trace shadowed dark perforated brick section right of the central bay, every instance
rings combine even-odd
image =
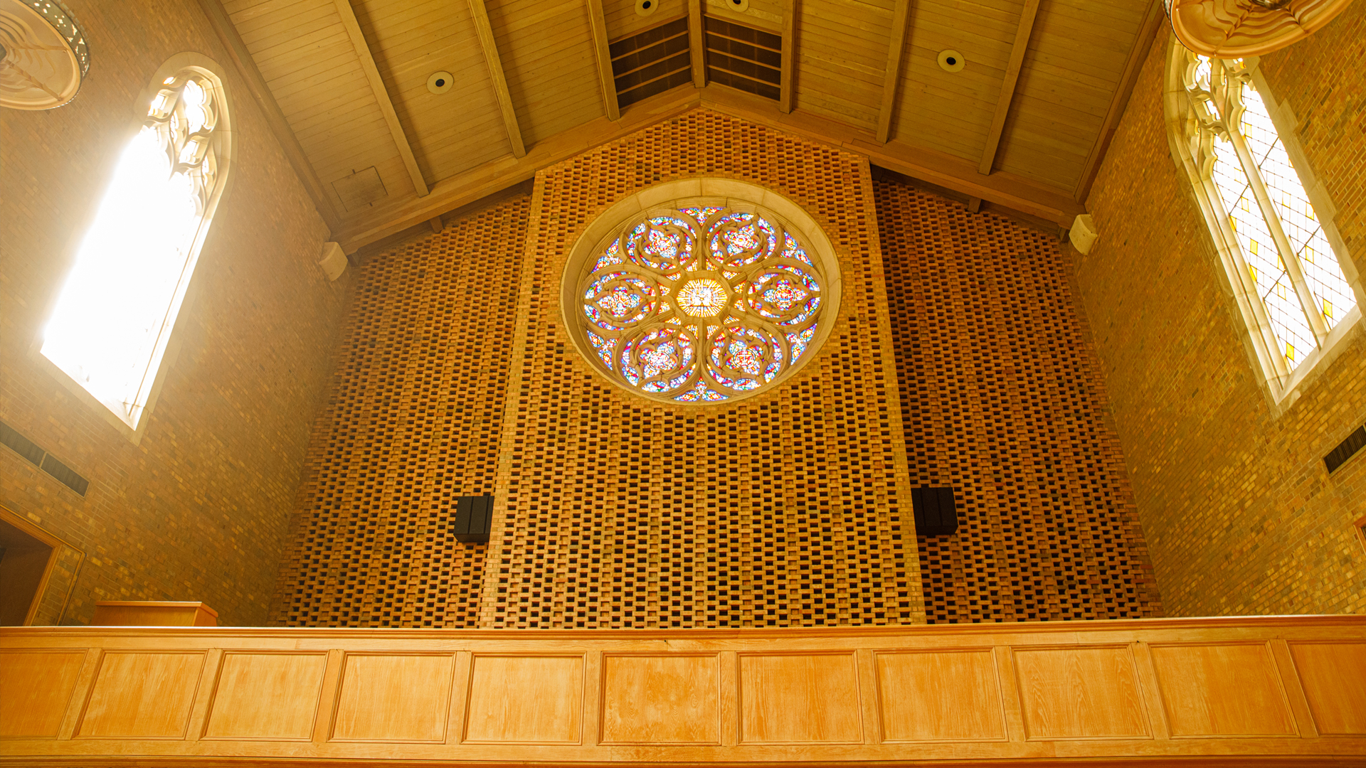
[[[958,499],[958,533],[919,537],[928,620],[1161,616],[1060,243],[876,190],[911,481]]]

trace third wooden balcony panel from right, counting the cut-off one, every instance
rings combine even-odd
[[[1030,739],[1152,735],[1128,646],[1015,650]]]

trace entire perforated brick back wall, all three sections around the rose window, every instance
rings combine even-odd
[[[594,373],[553,295],[601,210],[702,174],[811,210],[854,298],[790,383],[688,411]],[[1056,235],[705,111],[552,167],[362,265],[272,623],[1161,615],[1068,271]],[[910,537],[888,484],[955,486],[959,533]],[[479,493],[505,515],[492,555],[451,533],[452,497]]]

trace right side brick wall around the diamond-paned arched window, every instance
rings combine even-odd
[[[1262,57],[1299,118],[1305,153],[1366,266],[1366,5]],[[1115,422],[1157,581],[1172,615],[1359,612],[1366,462],[1322,456],[1366,421],[1366,333],[1277,414],[1205,223],[1171,159],[1149,55],[1089,208],[1100,241],[1078,257]]]

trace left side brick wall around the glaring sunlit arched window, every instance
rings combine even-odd
[[[48,112],[0,109],[0,420],[90,480],[82,497],[0,448],[0,503],[85,549],[64,620],[96,600],[204,600],[225,625],[266,618],[344,282],[314,264],[326,228],[194,3],[81,3],[90,77]],[[227,68],[236,159],[199,257],[178,347],[141,444],[29,357],[172,55]]]

